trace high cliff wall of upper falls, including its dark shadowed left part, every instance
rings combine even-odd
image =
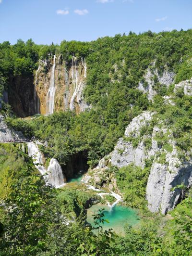
[[[68,64],[61,54],[40,60],[33,75],[10,77],[8,102],[15,114],[21,117],[35,114],[52,114],[49,109],[50,87],[54,86],[52,98],[54,111],[74,110],[76,114],[89,107],[84,102],[83,90],[86,80],[86,63],[72,57]]]

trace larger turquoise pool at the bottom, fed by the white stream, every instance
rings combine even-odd
[[[103,229],[113,229],[116,233],[124,235],[124,227],[125,224],[129,223],[132,227],[136,227],[140,219],[137,215],[137,211],[125,207],[122,205],[115,205],[112,209],[110,209],[106,205],[96,204],[91,208],[87,209],[87,222],[94,226],[93,214],[97,213],[100,208],[104,208],[105,219],[108,219],[109,223],[104,222]]]

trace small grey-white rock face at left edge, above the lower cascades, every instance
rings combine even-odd
[[[24,135],[21,131],[15,131],[7,127],[3,115],[0,115],[0,142],[20,142],[24,141]]]

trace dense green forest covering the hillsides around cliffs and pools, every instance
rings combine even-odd
[[[72,56],[84,57],[88,66],[85,101],[92,108],[76,115],[72,111],[32,119],[18,118],[9,104],[2,101],[1,114],[9,127],[47,141],[40,146],[48,162],[56,158],[65,166],[73,154],[86,152],[93,168],[109,154],[123,136],[133,117],[144,110],[155,111],[149,127],[136,146],[150,134],[160,119],[173,131],[180,159],[184,162],[192,148],[192,96],[183,90],[174,93],[174,84],[162,86],[156,81],[157,95],[149,101],[138,90],[148,67],[162,74],[175,73],[174,83],[192,77],[192,30],[151,31],[136,35],[116,35],[92,42],[62,41],[59,45],[36,45],[31,39],[15,45],[0,44],[0,96],[12,85],[12,77],[35,75],[40,59],[61,54],[67,65]],[[173,97],[174,105],[164,104],[163,96]],[[61,140],[62,138],[62,140]],[[159,136],[158,144],[170,149],[168,135]],[[151,143],[151,141],[145,141]],[[32,159],[14,143],[0,144],[0,255],[174,255],[192,254],[192,190],[185,190],[181,203],[167,217],[152,214],[145,200],[146,183],[152,164],[144,169],[126,166],[110,168],[124,195],[125,205],[140,208],[142,223],[134,229],[127,223],[125,236],[102,230],[102,210],[95,216],[95,227],[85,222],[87,202],[97,200],[83,185],[61,190],[45,186]],[[164,155],[161,161],[165,161]],[[182,184],[180,184],[181,186]],[[2,203],[1,203],[2,202]],[[68,218],[74,221],[67,223]],[[67,225],[66,225],[67,223]]]

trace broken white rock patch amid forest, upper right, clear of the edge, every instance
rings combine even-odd
[[[144,75],[144,79],[148,85],[145,88],[144,84],[142,82],[139,82],[138,89],[142,90],[144,93],[148,93],[148,100],[153,100],[153,97],[156,95],[156,91],[153,89],[154,75],[157,76],[159,83],[166,85],[168,87],[170,84],[172,84],[175,74],[173,72],[169,72],[168,70],[164,70],[162,76],[159,76],[157,69],[155,69],[152,73],[152,71],[149,68],[147,68],[147,72]]]

